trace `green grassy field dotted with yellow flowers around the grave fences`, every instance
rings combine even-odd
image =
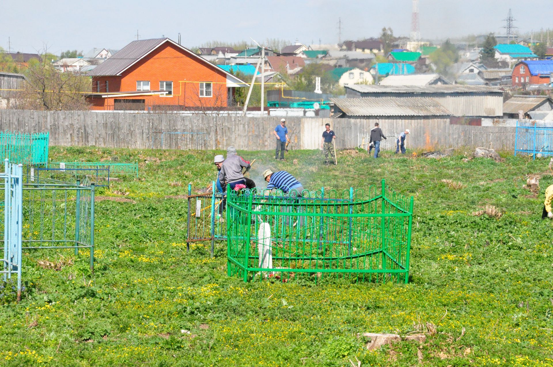
[[[415,197],[408,285],[246,284],[226,275],[226,243],[186,251],[187,183],[205,187],[219,151],[51,149],[56,161],[139,161],[139,179],[98,189],[96,268],[87,251],[61,270],[37,261],[71,251],[24,255],[19,305],[1,290],[0,366],[551,366],[553,222],[542,221],[545,160],[505,153],[503,162],[341,152],[265,151],[259,172],[288,170],[305,188],[363,188],[386,179]],[[294,165],[293,159],[299,164]],[[526,175],[542,174],[535,196]],[[452,180],[453,182],[443,182]],[[456,185],[456,182],[460,184]],[[475,216],[487,205],[502,216]],[[463,331],[464,330],[464,331]],[[364,332],[424,331],[426,342],[367,351]],[[357,363],[356,363],[357,364]]]

